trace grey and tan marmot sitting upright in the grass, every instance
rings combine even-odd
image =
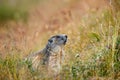
[[[34,69],[41,68],[45,65],[49,73],[57,75],[60,73],[61,64],[64,60],[64,46],[67,42],[67,35],[60,34],[52,36],[43,50],[40,50],[27,57],[31,60]]]

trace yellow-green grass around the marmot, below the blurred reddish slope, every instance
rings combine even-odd
[[[72,21],[64,29],[47,32],[42,37],[44,41],[41,38],[37,38],[37,41],[43,46],[47,38],[56,33],[65,33],[69,36],[65,46],[66,62],[60,75],[62,80],[120,79],[119,11],[114,12],[110,8],[100,13],[90,12],[80,22]],[[36,40],[33,38],[32,41],[34,43]],[[14,41],[11,44],[13,45]],[[19,47],[22,45],[19,44]],[[34,50],[30,47],[28,49],[25,47],[19,49],[19,47],[4,48],[7,55],[0,58],[0,80],[52,80],[43,77],[43,74],[46,74],[44,70],[34,72],[31,63],[23,61],[23,56]],[[35,46],[36,49],[38,47]]]

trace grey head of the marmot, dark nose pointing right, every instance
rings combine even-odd
[[[63,47],[66,44],[66,42],[67,35],[65,34],[55,35],[48,40],[47,46],[51,49],[54,49],[57,47]]]

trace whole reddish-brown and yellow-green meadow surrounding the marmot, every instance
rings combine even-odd
[[[17,17],[16,9],[5,17],[0,11],[0,80],[52,80],[23,59],[60,33],[68,35],[61,80],[120,80],[120,1],[103,2],[104,7],[96,2],[56,0],[56,6],[45,0],[22,13],[17,9]]]

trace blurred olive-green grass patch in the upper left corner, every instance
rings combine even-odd
[[[39,0],[1,0],[0,2],[0,22],[10,20],[27,21],[28,11]]]

